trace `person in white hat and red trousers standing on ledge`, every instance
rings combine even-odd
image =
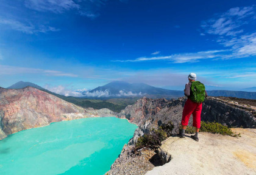
[[[196,134],[191,136],[192,139],[199,141],[198,132],[201,126],[201,111],[202,102],[208,96],[205,91],[205,86],[200,81],[196,81],[196,74],[190,73],[188,75],[188,83],[185,85],[184,94],[188,97],[182,112],[182,130],[179,137],[185,138],[185,129],[190,120],[190,115],[193,115],[193,126],[196,127]]]

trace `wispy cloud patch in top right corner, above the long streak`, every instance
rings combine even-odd
[[[213,18],[202,21],[201,27],[206,33],[224,36],[235,36],[243,33],[241,26],[247,21],[255,18],[255,7],[235,7],[225,13],[213,16]]]

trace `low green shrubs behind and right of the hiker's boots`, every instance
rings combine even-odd
[[[188,126],[186,131],[188,134],[193,134],[195,129],[193,126]],[[241,134],[235,134],[232,130],[221,123],[217,122],[201,122],[201,128],[199,132],[210,132],[213,134],[222,134],[223,136],[241,137]]]

